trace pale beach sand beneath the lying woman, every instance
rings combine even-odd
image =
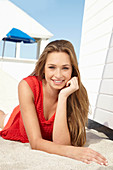
[[[0,170],[113,170],[113,141],[93,129],[87,129],[87,147],[103,154],[109,165],[87,165],[67,157],[31,150],[29,144],[0,137]]]

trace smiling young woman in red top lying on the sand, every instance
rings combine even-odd
[[[18,86],[19,106],[11,115],[0,111],[0,135],[29,142],[42,150],[83,161],[107,165],[99,153],[86,147],[85,125],[89,100],[80,80],[73,45],[66,40],[50,42],[33,73]]]

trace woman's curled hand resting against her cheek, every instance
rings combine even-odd
[[[79,89],[78,85],[78,77],[72,77],[67,83],[66,87],[64,87],[61,91],[60,94],[63,94],[65,97],[68,97],[75,91]]]

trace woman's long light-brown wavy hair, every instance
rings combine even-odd
[[[86,142],[85,126],[88,120],[89,100],[87,91],[80,79],[77,57],[73,45],[67,40],[50,42],[42,52],[31,75],[38,76],[41,80],[45,78],[44,67],[47,56],[54,51],[65,52],[70,56],[72,77],[78,77],[79,90],[72,93],[67,99],[67,123],[71,137],[71,144],[74,146],[83,146]]]

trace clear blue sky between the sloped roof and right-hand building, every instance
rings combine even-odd
[[[74,45],[79,58],[85,0],[10,0],[54,36]]]

